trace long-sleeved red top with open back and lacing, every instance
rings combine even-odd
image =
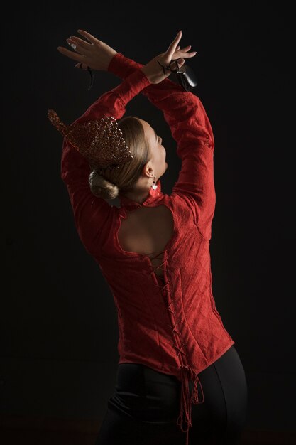
[[[183,91],[169,79],[151,85],[139,69],[141,66],[121,53],[114,55],[109,71],[124,80],[99,97],[76,122],[103,115],[120,119],[126,104],[141,92],[163,112],[177,142],[182,167],[172,193],[163,193],[158,180],[157,191],[151,188],[142,204],[119,195],[117,207],[95,197],[89,189],[89,163],[66,139],[61,176],[80,240],[114,296],[119,363],[141,363],[180,380],[177,424],[187,432],[188,444],[191,404],[204,401],[197,374],[234,344],[212,294],[209,240],[216,202],[214,137],[196,95]],[[156,205],[167,206],[174,222],[170,241],[158,253],[163,279],[155,274],[149,255],[122,250],[117,236],[127,212]]]

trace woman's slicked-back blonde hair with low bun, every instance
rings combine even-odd
[[[119,120],[118,124],[133,159],[121,163],[119,168],[93,168],[89,174],[92,193],[107,200],[115,199],[119,191],[131,191],[143,166],[150,161],[150,149],[140,120],[128,116]]]

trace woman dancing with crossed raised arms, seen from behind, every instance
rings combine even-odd
[[[123,79],[69,127],[48,113],[65,136],[61,174],[77,231],[118,313],[116,387],[96,445],[239,444],[246,377],[212,295],[214,137],[199,98],[166,78],[196,52],[180,49],[180,31],[140,65],[78,32],[67,39],[74,51],[60,53]],[[168,168],[161,137],[140,117],[124,117],[140,92],[177,142],[182,168],[170,195],[160,185]],[[107,202],[116,196],[119,208]]]

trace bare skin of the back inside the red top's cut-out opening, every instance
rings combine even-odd
[[[127,213],[127,218],[121,220],[119,244],[127,252],[148,255],[153,266],[158,267],[163,262],[163,255],[153,257],[165,250],[173,230],[172,213],[166,205],[141,207]],[[163,277],[162,269],[156,269],[155,274]]]

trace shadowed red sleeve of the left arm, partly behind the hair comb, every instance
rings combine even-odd
[[[126,104],[147,85],[150,85],[150,82],[143,71],[131,73],[118,87],[99,97],[75,122],[100,119],[104,115],[120,119],[126,111]],[[88,161],[64,139],[61,177],[70,196],[77,232],[86,250],[90,254],[98,254],[109,232],[111,206],[90,191],[89,173]]]

